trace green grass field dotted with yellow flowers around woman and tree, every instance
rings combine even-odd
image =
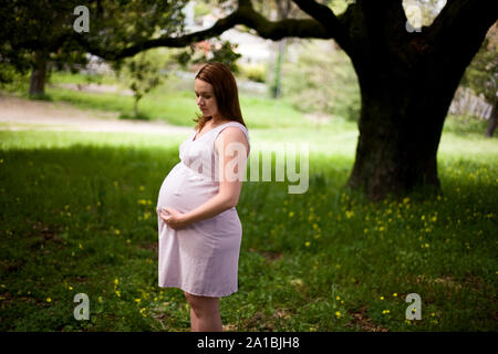
[[[484,122],[448,118],[436,199],[371,204],[342,188],[353,123],[263,129],[258,115],[247,119],[253,147],[310,144],[310,187],[245,183],[239,291],[220,305],[227,330],[497,330],[498,144],[481,137]],[[189,330],[183,292],[157,287],[155,215],[185,138],[0,131],[0,331]],[[76,293],[90,298],[90,321],[73,316]],[[408,293],[421,295],[422,320],[405,319]]]

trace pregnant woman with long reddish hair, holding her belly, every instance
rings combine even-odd
[[[179,288],[190,305],[191,331],[221,331],[219,298],[237,291],[242,227],[237,215],[249,157],[249,134],[236,80],[221,63],[195,77],[198,116],[179,146],[180,162],[157,201],[159,287]]]

